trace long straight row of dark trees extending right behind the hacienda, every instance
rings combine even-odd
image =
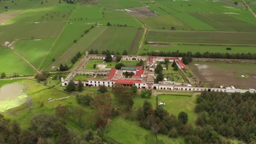
[[[149,55],[149,56],[162,56],[162,57],[195,57],[195,58],[227,58],[227,59],[256,59],[256,53],[220,53],[220,52],[147,52],[147,53],[142,53],[142,55]]]

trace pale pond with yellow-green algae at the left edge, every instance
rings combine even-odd
[[[0,88],[0,112],[20,106],[27,101],[24,87],[19,83],[11,83]]]

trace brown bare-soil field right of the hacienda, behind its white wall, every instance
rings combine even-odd
[[[256,88],[256,64],[253,63],[192,62],[188,67],[203,83]],[[247,74],[250,77],[241,79],[237,74]]]

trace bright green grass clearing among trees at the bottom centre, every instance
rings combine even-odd
[[[114,118],[107,127],[104,136],[110,137],[120,143],[155,143],[152,130],[142,128],[138,122],[125,120],[121,117]],[[109,140],[108,141],[112,141]],[[113,142],[113,141],[112,141]],[[183,137],[172,139],[167,135],[158,134],[158,143],[184,143]]]

